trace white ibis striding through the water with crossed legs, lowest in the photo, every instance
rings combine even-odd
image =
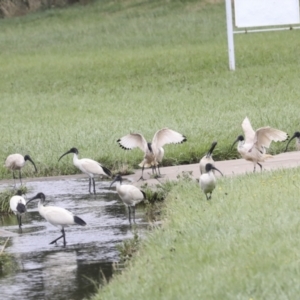
[[[38,209],[40,215],[45,218],[50,224],[61,229],[62,235],[52,241],[50,244],[56,243],[59,239],[63,238],[64,247],[66,246],[66,234],[65,227],[69,225],[81,225],[85,226],[86,223],[78,216],[74,216],[70,211],[65,208],[58,206],[44,206],[45,203],[45,195],[43,193],[36,194],[33,198],[29,199],[29,202],[39,199]]]

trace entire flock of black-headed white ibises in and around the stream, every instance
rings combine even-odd
[[[240,153],[242,158],[253,163],[254,172],[256,170],[256,165],[258,165],[260,169],[262,169],[261,163],[264,162],[267,158],[271,157],[270,154],[267,154],[267,149],[270,147],[272,141],[282,142],[288,139],[288,134],[286,132],[275,128],[271,128],[269,126],[262,127],[254,131],[247,117],[242,122],[242,129],[244,131],[244,136],[239,135],[233,143],[232,147],[235,145],[235,143],[238,142],[237,151]],[[300,132],[294,133],[294,135],[288,141],[285,151],[287,151],[290,142],[294,138],[296,139],[296,149],[300,151]],[[180,144],[185,141],[186,137],[184,135],[169,128],[163,128],[158,130],[154,134],[151,142],[147,142],[143,135],[139,133],[130,133],[117,140],[120,147],[122,147],[125,150],[140,148],[143,151],[143,161],[139,164],[139,166],[142,168],[142,175],[140,179],[143,180],[143,172],[145,168],[152,168],[152,173],[155,177],[161,176],[159,166],[164,156],[164,145]],[[207,200],[211,199],[212,192],[216,187],[215,171],[218,171],[223,176],[222,172],[215,167],[215,162],[212,157],[212,153],[216,145],[217,142],[214,141],[211,144],[211,147],[208,150],[208,152],[201,158],[199,162],[199,186],[205,194]],[[79,159],[79,151],[77,148],[71,148],[69,151],[61,155],[58,161],[60,161],[62,157],[70,153],[73,154],[74,166],[89,177],[89,193],[96,194],[96,176],[105,176],[108,178],[113,177],[112,172],[99,162],[89,158]],[[25,166],[27,160],[33,164],[36,171],[36,165],[29,155],[22,156],[21,154],[12,154],[9,155],[5,161],[5,167],[12,171],[14,181],[16,180],[14,172],[16,170],[19,171],[19,179],[21,185],[21,169]],[[145,199],[145,193],[140,188],[134,185],[122,184],[122,177],[119,174],[117,174],[113,178],[110,187],[114,183],[116,183],[116,190],[119,197],[121,198],[123,203],[128,207],[128,219],[131,225],[132,219],[135,223],[135,206]],[[62,233],[61,236],[52,241],[50,244],[56,243],[59,239],[63,239],[63,246],[65,247],[66,237],[64,228],[68,225],[75,224],[81,226],[86,225],[86,222],[84,220],[82,220],[78,216],[73,215],[70,211],[64,208],[57,206],[45,206],[45,195],[42,192],[39,192],[36,196],[34,196],[26,202],[26,200],[22,197],[21,192],[18,190],[16,195],[10,199],[10,208],[13,211],[13,213],[15,213],[17,216],[18,225],[20,229],[22,227],[22,215],[27,211],[26,206],[29,202],[36,199],[39,200],[38,210],[40,215],[43,218],[45,218],[50,224],[58,227]]]

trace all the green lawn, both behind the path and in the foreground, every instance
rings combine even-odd
[[[58,158],[76,147],[117,172],[142,159],[116,142],[129,132],[184,134],[165,147],[163,164],[177,165],[213,140],[215,160],[238,157],[245,116],[300,130],[300,31],[236,36],[230,72],[225,4],[210,2],[98,0],[0,20],[2,161],[29,154],[38,172],[24,176],[75,174]],[[182,178],[162,226],[94,299],[298,299],[299,182],[299,169],[224,177],[206,201]]]

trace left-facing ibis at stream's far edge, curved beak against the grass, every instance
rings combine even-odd
[[[89,158],[78,158],[78,149],[77,148],[71,148],[69,151],[64,153],[60,159],[69,154],[73,153],[73,164],[75,167],[77,167],[81,172],[87,174],[89,176],[89,192],[92,194],[91,187],[93,182],[93,189],[94,194],[96,194],[96,188],[95,188],[95,176],[108,176],[111,177],[111,171],[107,169],[106,167],[102,166],[100,163],[98,163],[95,160],[89,159]]]

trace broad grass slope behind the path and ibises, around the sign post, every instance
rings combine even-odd
[[[255,128],[299,129],[298,32],[237,36],[229,72],[224,3],[95,1],[0,26],[0,158],[30,154],[38,174],[28,166],[25,176],[78,172],[71,157],[57,162],[74,146],[109,168],[137,167],[140,150],[116,143],[130,131],[185,134],[166,147],[164,164],[175,165],[213,140],[216,159],[236,157],[246,115]],[[0,177],[11,177],[2,164]]]

